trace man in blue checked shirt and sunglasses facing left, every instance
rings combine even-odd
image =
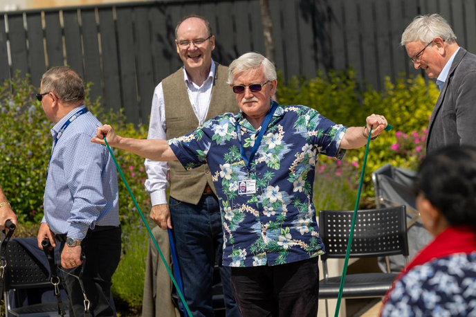
[[[44,193],[44,217],[38,246],[49,239],[61,243],[61,265],[78,275],[86,256],[82,282],[92,316],[115,316],[111,278],[120,260],[118,179],[106,147],[90,142],[101,123],[84,107],[84,83],[68,66],[44,73],[41,93],[44,113],[55,125]],[[62,274],[69,316],[84,316],[80,282]]]

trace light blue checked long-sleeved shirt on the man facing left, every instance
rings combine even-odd
[[[102,124],[86,112],[55,138],[66,121],[84,106],[73,109],[51,134],[53,150],[44,193],[44,218],[53,233],[82,240],[89,228],[119,225],[116,167],[107,147],[91,143]]]

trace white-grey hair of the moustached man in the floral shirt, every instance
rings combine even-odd
[[[263,65],[264,76],[266,80],[275,80],[277,78],[276,68],[270,60],[259,53],[244,53],[230,64],[228,73],[228,84],[233,84],[235,75],[243,71],[257,69]]]

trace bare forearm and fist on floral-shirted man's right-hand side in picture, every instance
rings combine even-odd
[[[370,127],[372,127],[372,138],[378,136],[387,127],[387,119],[384,116],[372,114],[368,116],[367,127],[349,127],[345,132],[342,141],[340,141],[339,149],[358,149],[367,144],[367,136],[369,136]]]

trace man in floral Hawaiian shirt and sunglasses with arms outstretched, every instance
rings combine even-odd
[[[246,316],[316,316],[318,255],[324,253],[312,203],[318,154],[342,159],[387,126],[383,116],[364,127],[336,125],[304,106],[282,106],[273,64],[246,53],[230,64],[228,83],[241,111],[223,114],[170,141],[117,136],[109,125],[93,142],[185,169],[208,163],[223,223],[223,265]]]

